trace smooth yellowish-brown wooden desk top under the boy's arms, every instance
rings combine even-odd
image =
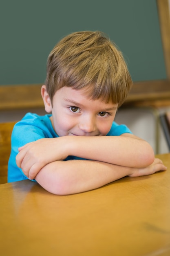
[[[170,256],[168,170],[58,196],[29,180],[0,185],[2,256]]]

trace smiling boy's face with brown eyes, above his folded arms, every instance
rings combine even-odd
[[[118,104],[88,99],[84,89],[63,87],[53,97],[51,121],[59,136],[104,136],[112,126]]]

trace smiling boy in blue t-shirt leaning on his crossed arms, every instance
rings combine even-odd
[[[52,114],[28,113],[15,125],[8,181],[35,179],[66,195],[166,170],[146,141],[114,122],[131,85],[121,52],[104,34],[63,38],[49,55],[41,90]]]

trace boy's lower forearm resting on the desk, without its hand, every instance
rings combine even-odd
[[[99,188],[132,174],[132,168],[106,162],[71,160],[44,166],[35,180],[47,191],[67,195]]]

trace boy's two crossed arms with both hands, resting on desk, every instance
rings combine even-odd
[[[166,170],[150,145],[131,134],[40,139],[19,149],[17,165],[47,191],[71,194],[98,188],[124,176]],[[74,155],[90,160],[64,160]]]

